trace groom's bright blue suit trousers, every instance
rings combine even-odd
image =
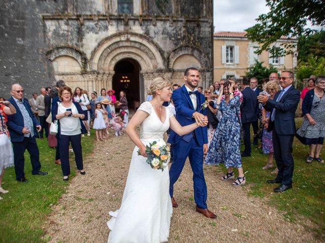
[[[173,150],[173,164],[169,171],[170,196],[173,196],[174,184],[178,180],[178,177],[184,168],[186,158],[188,157],[193,171],[194,201],[198,208],[206,209],[208,192],[203,174],[203,147],[200,146],[197,140],[193,137],[189,142],[180,140],[177,144],[173,144]]]

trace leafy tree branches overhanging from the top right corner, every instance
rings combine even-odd
[[[284,56],[291,53],[295,44],[288,42],[281,47],[272,46],[277,39],[283,36],[297,38],[301,35],[309,35],[314,32],[306,28],[307,21],[311,25],[325,24],[324,0],[266,0],[270,12],[259,15],[257,24],[246,29],[247,38],[253,42],[262,44],[256,51],[268,51],[273,56]]]

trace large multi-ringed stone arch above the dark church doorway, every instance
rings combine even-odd
[[[94,71],[113,70],[123,58],[137,60],[142,70],[164,69],[163,51],[150,38],[137,33],[117,33],[105,38],[92,52],[90,68]]]

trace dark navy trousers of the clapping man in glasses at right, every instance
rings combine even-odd
[[[278,175],[276,180],[281,184],[290,186],[293,183],[294,158],[293,152],[294,135],[278,135],[273,129],[272,143]]]

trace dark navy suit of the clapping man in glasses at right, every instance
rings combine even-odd
[[[276,102],[280,91],[274,99],[268,99],[264,108],[271,114],[275,109],[274,121],[269,120],[268,132],[273,131],[272,142],[274,157],[278,167],[277,181],[290,186],[294,173],[294,158],[292,156],[293,141],[296,134],[295,114],[300,99],[300,92],[291,86]]]

